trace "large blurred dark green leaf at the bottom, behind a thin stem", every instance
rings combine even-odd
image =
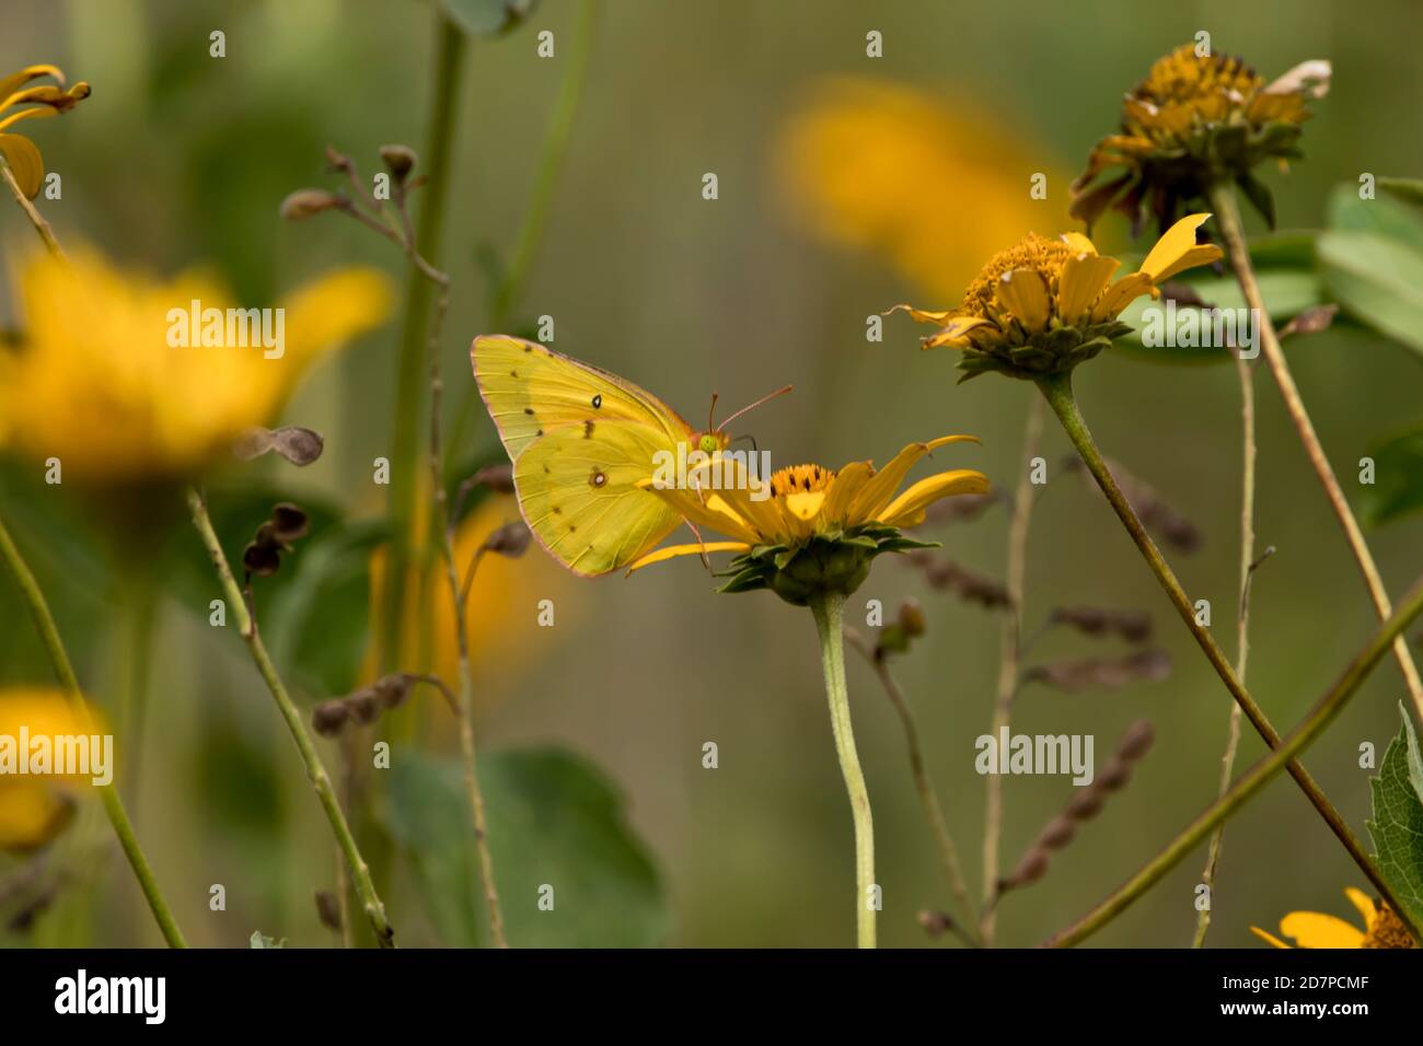
[[[484,901],[461,766],[411,751],[396,760],[384,818],[408,851],[431,921],[451,945],[484,939]],[[490,850],[509,944],[643,948],[672,915],[618,788],[561,749],[480,756]],[[552,911],[539,909],[552,887]]]

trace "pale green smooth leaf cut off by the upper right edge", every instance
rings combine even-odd
[[[1319,238],[1319,263],[1345,312],[1423,354],[1423,249],[1380,232],[1331,231]]]

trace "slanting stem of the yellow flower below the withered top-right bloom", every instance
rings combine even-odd
[[[1249,719],[1251,724],[1255,727],[1257,733],[1265,743],[1272,749],[1279,749],[1281,740],[1279,733],[1271,726],[1269,719],[1266,719],[1264,710],[1255,703],[1255,699],[1249,696],[1245,685],[1241,683],[1231,663],[1225,659],[1225,653],[1215,643],[1210,630],[1195,620],[1195,608],[1191,605],[1190,596],[1185,595],[1185,589],[1181,588],[1181,582],[1177,581],[1175,572],[1167,564],[1165,556],[1161,555],[1161,549],[1157,548],[1151,535],[1147,534],[1146,527],[1143,527],[1141,519],[1137,517],[1136,509],[1127,502],[1126,495],[1121,488],[1117,487],[1117,481],[1113,478],[1111,471],[1107,468],[1107,463],[1103,461],[1101,453],[1097,450],[1096,441],[1091,438],[1091,433],[1087,430],[1087,423],[1081,417],[1081,411],[1077,410],[1077,398],[1073,396],[1072,390],[1072,376],[1070,374],[1053,374],[1050,377],[1040,379],[1037,387],[1042,390],[1043,396],[1047,398],[1047,406],[1052,407],[1057,420],[1062,421],[1063,431],[1067,433],[1067,438],[1072,440],[1073,447],[1077,448],[1077,454],[1081,457],[1083,464],[1091,472],[1101,492],[1107,495],[1107,501],[1111,502],[1113,509],[1116,509],[1117,517],[1121,519],[1121,525],[1127,528],[1131,539],[1137,544],[1141,551],[1141,556],[1147,561],[1147,566],[1161,582],[1161,588],[1165,589],[1167,596],[1171,599],[1171,605],[1175,606],[1177,612],[1181,615],[1181,620],[1185,626],[1191,629],[1191,635],[1195,636],[1197,645],[1201,652],[1205,653],[1205,659],[1215,669],[1215,673],[1225,683],[1225,689],[1231,692],[1231,697],[1239,704],[1241,712]],[[1359,870],[1369,878],[1375,888],[1383,895],[1385,899],[1392,897],[1387,882],[1379,874],[1377,867],[1365,852],[1359,840],[1345,824],[1345,820],[1339,815],[1339,811],[1333,808],[1333,804],[1325,797],[1323,791],[1315,783],[1315,778],[1309,776],[1295,760],[1288,763],[1289,776],[1295,778],[1309,801],[1313,803],[1315,810],[1319,815],[1325,818],[1325,823],[1333,831],[1333,834],[1343,844],[1345,850],[1353,858]],[[1392,904],[1392,901],[1390,901]]]

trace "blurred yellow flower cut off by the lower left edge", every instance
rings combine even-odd
[[[95,716],[92,710],[90,714]],[[0,689],[0,737],[17,739],[21,727],[30,737],[84,734],[104,729],[85,723],[63,690]],[[0,850],[37,850],[58,835],[70,820],[71,796],[88,787],[90,780],[0,774]]]

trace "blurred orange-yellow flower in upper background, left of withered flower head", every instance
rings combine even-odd
[[[963,98],[891,83],[818,84],[781,134],[788,205],[827,239],[884,255],[946,297],[1029,228],[1066,223],[1066,185],[1042,149]],[[1047,199],[1033,199],[1043,174]]]

